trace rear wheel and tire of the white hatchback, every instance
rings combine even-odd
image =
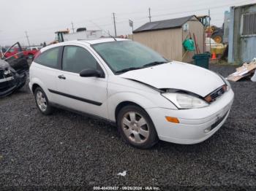
[[[37,87],[36,90],[34,90],[34,98],[37,104],[37,108],[42,114],[52,114],[53,107],[49,105],[47,95],[41,87]]]

